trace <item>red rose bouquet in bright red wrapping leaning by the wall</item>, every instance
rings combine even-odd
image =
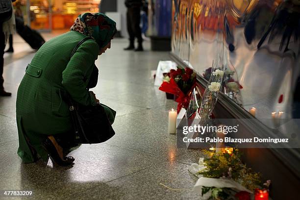
[[[182,107],[188,108],[191,90],[196,86],[196,73],[190,68],[171,70],[164,77],[164,82],[159,90],[173,94],[178,102],[177,113]]]

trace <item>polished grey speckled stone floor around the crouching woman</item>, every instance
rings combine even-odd
[[[176,104],[150,77],[169,54],[150,51],[149,43],[144,52],[124,51],[126,45],[125,39],[114,39],[112,49],[96,61],[100,77],[93,91],[117,111],[116,135],[102,144],[82,145],[71,153],[75,165],[63,168],[51,161],[23,164],[17,155],[16,94],[34,51],[14,37],[15,53],[4,55],[4,86],[13,95],[0,98],[0,190],[31,190],[30,199],[36,200],[200,199],[187,168],[201,153],[176,148],[176,135],[167,132],[168,110]]]

